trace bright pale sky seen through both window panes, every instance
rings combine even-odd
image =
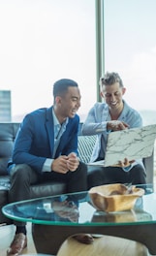
[[[12,121],[52,105],[52,84],[78,81],[83,121],[97,100],[96,0],[0,0],[0,90]],[[105,70],[119,73],[125,100],[156,123],[156,1],[105,0]],[[4,120],[5,121],[5,120]]]

